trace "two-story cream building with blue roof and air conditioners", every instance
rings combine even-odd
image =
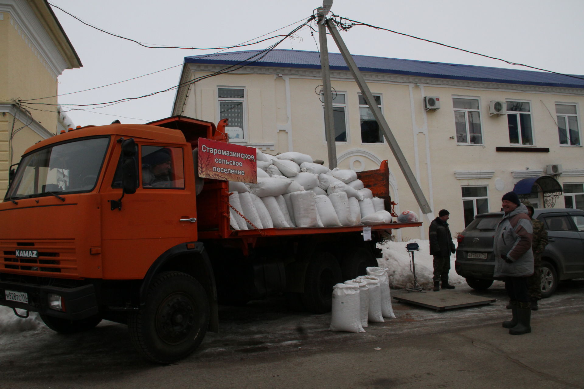
[[[228,118],[231,142],[272,154],[303,152],[326,164],[319,53],[257,54],[186,57],[173,114]],[[499,211],[502,195],[522,179],[523,197],[539,208],[584,209],[584,76],[354,59],[434,213],[450,211],[453,233],[477,213]],[[330,62],[339,167],[376,169],[387,159],[398,211],[421,216],[345,61],[330,54]],[[401,234],[425,238],[426,230],[427,223]]]

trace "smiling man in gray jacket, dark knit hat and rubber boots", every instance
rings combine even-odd
[[[505,289],[513,312],[512,320],[503,321],[511,335],[531,332],[531,303],[527,279],[533,274],[533,227],[527,207],[519,201],[515,192],[503,195],[503,219],[497,225],[493,254],[495,278],[505,281]]]

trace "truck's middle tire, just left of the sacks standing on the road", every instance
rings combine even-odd
[[[343,282],[339,262],[329,253],[317,253],[308,264],[302,303],[312,313],[331,311],[332,287]]]

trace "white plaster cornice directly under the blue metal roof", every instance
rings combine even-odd
[[[228,65],[218,64],[189,64],[193,72],[216,72]],[[282,74],[284,76],[300,76],[301,78],[321,79],[320,69],[305,68],[278,68],[275,66],[245,66],[244,68],[230,72],[231,74]],[[413,83],[426,86],[447,86],[475,89],[514,90],[520,92],[565,93],[576,96],[584,96],[584,90],[580,88],[523,85],[501,82],[479,82],[472,80],[454,80],[445,78],[432,78],[408,75],[396,75],[391,73],[363,72],[365,80],[370,82]],[[353,80],[349,71],[331,71],[331,79]]]

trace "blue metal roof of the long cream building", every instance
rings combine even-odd
[[[253,57],[254,55],[255,57]],[[318,51],[276,49],[268,52],[263,57],[262,55],[261,50],[193,55],[192,57],[185,57],[185,64],[236,65],[249,63],[253,66],[276,66],[280,68],[321,68]],[[357,66],[359,66],[359,69],[363,72],[392,73],[481,82],[584,88],[584,76],[580,75],[576,76],[582,77],[582,79],[548,72],[414,61],[412,59],[370,57],[369,55],[353,55],[353,58]],[[342,55],[338,53],[329,53],[329,64],[333,70],[349,70]]]

